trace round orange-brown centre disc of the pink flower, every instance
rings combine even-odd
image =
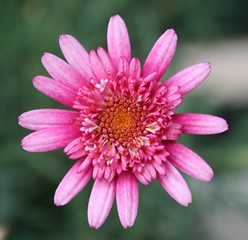
[[[111,99],[100,114],[99,132],[112,143],[132,147],[145,130],[145,115],[140,103],[127,98]]]

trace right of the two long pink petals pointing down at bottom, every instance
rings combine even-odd
[[[133,226],[138,212],[139,189],[133,173],[123,172],[118,176],[116,203],[119,218],[124,228]]]

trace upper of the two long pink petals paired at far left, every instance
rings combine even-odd
[[[73,125],[77,112],[60,109],[37,109],[23,113],[19,117],[19,124],[30,130]]]

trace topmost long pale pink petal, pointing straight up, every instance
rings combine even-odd
[[[130,61],[131,46],[128,30],[125,22],[119,15],[115,15],[109,20],[107,43],[110,58],[116,68],[121,57],[128,62]]]

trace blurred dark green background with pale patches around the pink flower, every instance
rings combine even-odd
[[[136,239],[243,240],[248,236],[248,1],[246,0],[0,0],[0,240]],[[122,229],[116,206],[99,230],[87,223],[92,182],[65,207],[53,194],[72,165],[62,150],[27,153],[29,133],[18,115],[61,106],[32,86],[47,75],[42,54],[60,57],[58,37],[74,35],[86,49],[106,47],[109,17],[120,14],[129,28],[133,56],[143,62],[167,28],[176,29],[178,49],[164,79],[201,61],[210,77],[185,97],[178,112],[227,119],[230,130],[215,136],[183,136],[181,142],[212,166],[210,183],[186,177],[193,204],[182,207],[157,182],[140,186],[133,228]]]

